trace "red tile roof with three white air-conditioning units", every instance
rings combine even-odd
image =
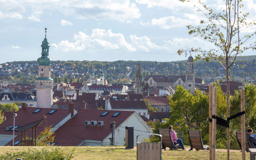
[[[117,111],[108,110],[108,114],[100,116],[105,111],[80,109],[73,118],[55,131],[54,142],[57,143],[57,146],[77,146],[84,140],[102,141],[111,133],[111,122],[115,122],[116,126],[119,126],[134,114],[132,111],[119,111],[120,114],[112,117]],[[85,126],[85,121],[103,121],[104,126]]]

